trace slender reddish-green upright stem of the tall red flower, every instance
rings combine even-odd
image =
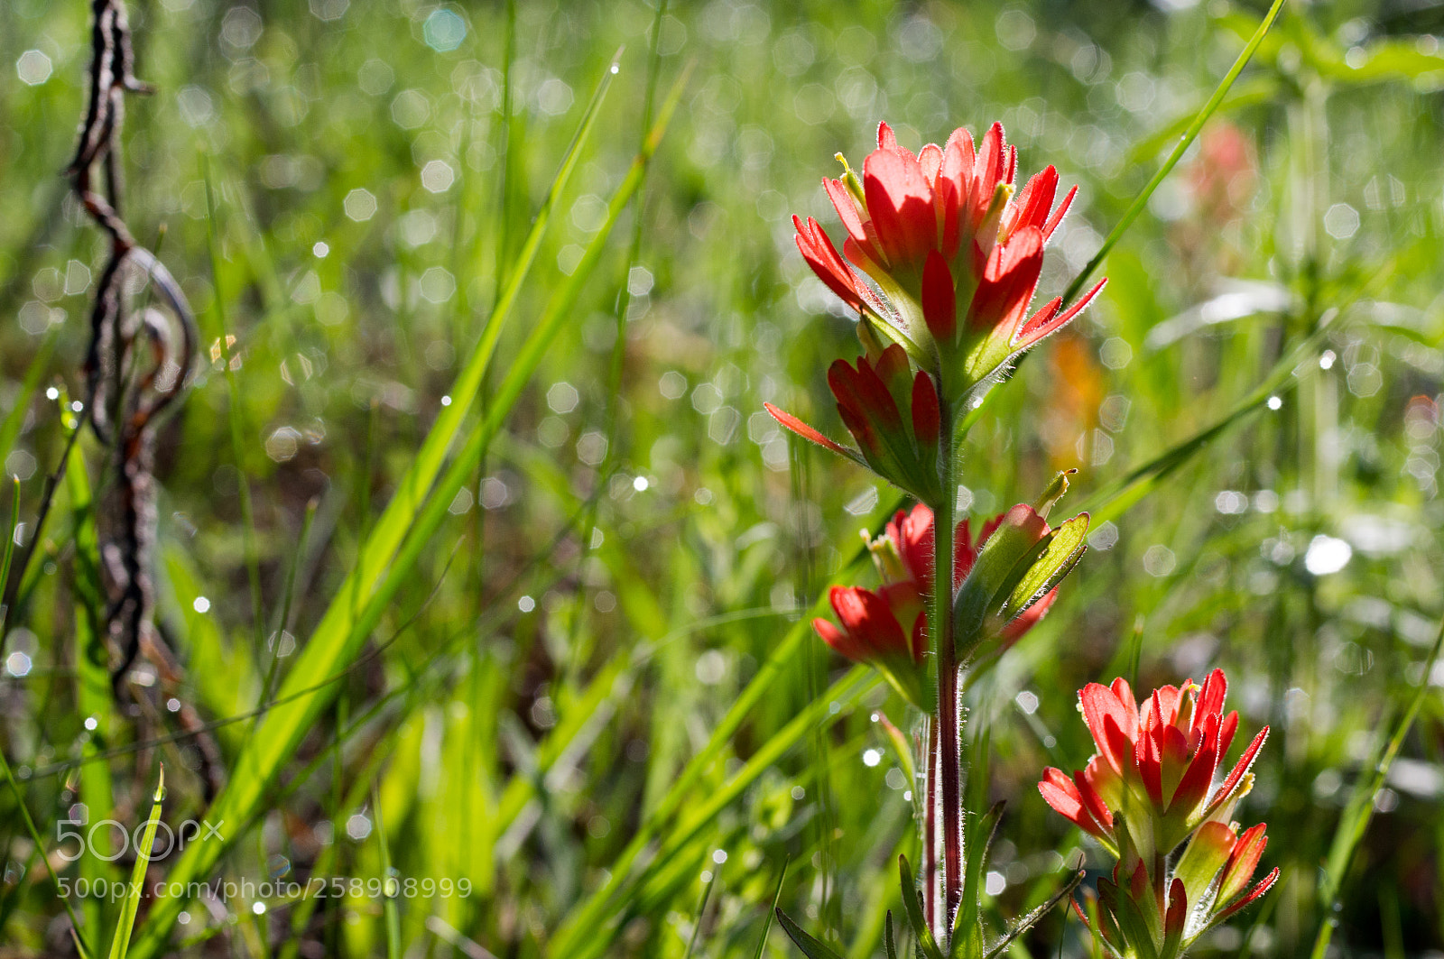
[[[953,513],[957,508],[957,467],[953,459],[953,412],[944,399],[939,429],[939,468],[943,494],[933,505],[933,608],[928,611],[928,644],[937,663],[937,765],[943,780],[943,891],[947,904],[944,929],[963,894],[962,752],[957,726],[957,651],[953,647]]]

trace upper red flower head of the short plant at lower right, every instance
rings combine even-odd
[[[1203,686],[1161,686],[1134,700],[1125,679],[1089,683],[1079,693],[1097,752],[1071,778],[1044,770],[1043,797],[1116,852],[1115,813],[1126,813],[1132,845],[1142,855],[1170,854],[1203,822],[1227,819],[1253,786],[1249,767],[1268,738],[1264,726],[1233,770],[1214,786],[1239,713],[1223,715],[1227,679],[1213,670]]]

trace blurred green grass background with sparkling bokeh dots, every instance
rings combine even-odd
[[[267,700],[269,676],[355,563],[625,46],[488,383],[579,267],[637,150],[656,12],[147,0],[130,13],[137,72],[157,94],[127,101],[127,218],[147,244],[163,231],[205,360],[159,441],[159,620],[185,669],[175,695],[222,721]],[[915,836],[910,784],[872,716],[904,729],[908,716],[879,685],[829,708],[846,664],[816,637],[773,656],[855,556],[858,530],[895,503],[762,412],[774,402],[843,435],[825,371],[858,350],[790,217],[840,237],[820,178],[839,150],[861,165],[879,120],[917,149],[1001,118],[1022,173],[1054,163],[1080,186],[1040,290],[1058,293],[1262,13],[1225,0],[671,4],[657,97],[693,72],[641,191],[635,263],[632,205],[335,705],[263,815],[232,823],[218,872],[371,880],[390,862],[403,880],[465,878],[471,894],[192,903],[173,942],[189,955],[386,955],[390,903],[409,956],[682,956],[689,943],[751,956],[790,858],[781,904],[849,956],[881,955],[895,856]],[[1223,666],[1240,734],[1272,726],[1239,817],[1269,823],[1264,867],[1284,877],[1204,952],[1308,955],[1328,916],[1330,956],[1444,949],[1437,693],[1337,877],[1337,910],[1324,868],[1405,703],[1421,682],[1444,685],[1444,667],[1424,676],[1444,614],[1441,32],[1431,0],[1285,6],[1105,261],[1102,299],[1028,357],[967,438],[962,498],[985,514],[1069,467],[1082,472],[1061,508],[1103,504],[1129,469],[1188,454],[1106,500],[1058,604],[969,693],[972,728],[991,737],[973,776],[1008,800],[993,933],[1066,862],[1103,862],[1034,783],[1047,764],[1086,761],[1074,690],[1126,674],[1136,637],[1144,689]],[[0,7],[0,459],[32,524],[64,446],[45,390],[82,389],[105,251],[58,175],[87,36],[84,3]],[[104,451],[88,436],[81,449],[103,494]],[[22,793],[46,841],[72,817],[133,828],[156,760],[166,822],[199,819],[199,754],[185,738],[157,745],[176,731],[159,708],[121,703],[107,721],[103,745],[123,751],[87,768],[105,770],[111,810],[90,799],[77,812],[81,774],[45,771],[92,744],[66,503],[12,611],[6,755],[30,773]],[[869,576],[858,566],[849,581]],[[755,702],[664,802],[748,683]],[[788,728],[814,700],[826,722]],[[227,761],[250,728],[214,731]],[[622,861],[644,823],[648,842]],[[0,842],[0,955],[72,949],[9,791]],[[52,861],[118,878],[130,858]],[[165,874],[166,859],[152,867]],[[118,904],[75,903],[107,942]],[[775,929],[767,949],[796,955]],[[1014,946],[1086,949],[1063,913]]]

